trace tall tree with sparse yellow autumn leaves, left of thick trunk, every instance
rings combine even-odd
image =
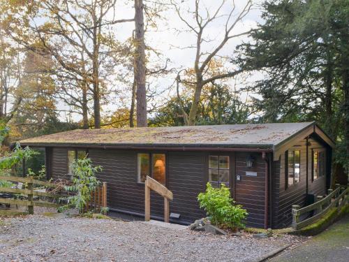
[[[24,4],[8,1],[1,6],[1,21],[8,35],[27,48],[39,39],[45,51],[80,80],[82,94],[87,86],[91,89],[96,129],[101,127],[102,85],[110,71],[105,63],[110,62],[110,52],[117,52],[118,46],[111,27],[133,21],[133,18],[117,20],[115,4],[116,0],[45,0]],[[81,53],[84,61],[80,60]]]

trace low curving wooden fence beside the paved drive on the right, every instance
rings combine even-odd
[[[300,208],[299,205],[292,205],[292,228],[299,230],[309,226],[323,217],[331,208],[341,208],[346,203],[349,203],[349,187],[339,187],[339,184],[336,184],[336,189],[328,189],[325,198],[318,196],[318,201],[311,205],[304,208]],[[304,216],[306,216],[306,219],[301,219]]]

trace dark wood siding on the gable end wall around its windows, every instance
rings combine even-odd
[[[292,205],[306,205],[306,169],[308,168],[308,191],[309,194],[324,194],[326,191],[326,179],[320,177],[314,182],[311,181],[311,149],[323,147],[318,141],[309,138],[308,147],[308,163],[306,158],[306,139],[289,150],[300,150],[301,152],[301,169],[300,181],[297,184],[286,186],[285,174],[285,154],[281,154],[280,161],[274,161],[274,177],[279,176],[279,182],[274,185],[274,212],[273,212],[273,227],[282,228],[290,226],[292,221],[291,209]],[[279,187],[279,190],[278,190]]]

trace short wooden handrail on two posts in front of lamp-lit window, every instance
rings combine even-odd
[[[163,196],[164,200],[164,221],[170,221],[170,200],[173,200],[173,194],[162,184],[147,176],[145,180],[145,221],[150,220],[150,189]]]

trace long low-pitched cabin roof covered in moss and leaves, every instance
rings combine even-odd
[[[22,145],[134,145],[164,147],[272,147],[313,122],[77,129],[21,140]]]

